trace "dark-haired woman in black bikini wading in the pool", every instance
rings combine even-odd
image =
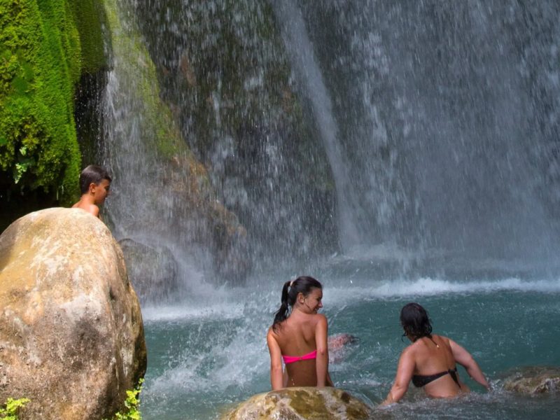
[[[397,375],[382,405],[397,402],[405,395],[409,382],[424,388],[426,395],[449,398],[468,393],[459,379],[456,364],[462,365],[472,379],[489,389],[488,381],[470,353],[452,339],[432,334],[428,312],[417,303],[409,303],[400,311],[400,325],[412,342],[400,355]]]

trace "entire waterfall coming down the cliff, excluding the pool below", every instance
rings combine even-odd
[[[244,235],[254,272],[309,267],[341,249],[405,265],[555,259],[554,2],[120,7],[119,31],[137,28],[132,46],[113,45],[106,90],[104,158],[122,193],[107,207],[121,237],[138,236],[141,223],[144,237],[159,237],[177,260],[201,261],[204,273],[223,259],[221,244]],[[141,71],[123,77],[132,62],[119,66],[120,55],[139,51]],[[139,87],[164,111],[137,111]],[[151,144],[148,127],[162,127],[153,116],[171,127],[179,154],[162,158],[167,146]],[[221,205],[214,214],[237,218],[232,238],[201,222],[207,207],[185,204],[188,188],[179,196],[169,182],[189,184],[203,166],[197,184]],[[153,180],[147,195],[132,188],[135,174]],[[226,254],[228,265],[243,260]]]

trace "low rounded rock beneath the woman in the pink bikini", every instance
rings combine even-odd
[[[254,395],[222,420],[354,420],[371,414],[370,407],[342,389],[300,387]]]

